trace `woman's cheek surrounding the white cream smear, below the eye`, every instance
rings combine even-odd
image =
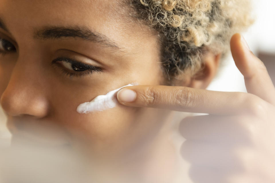
[[[141,61],[142,60],[142,61]],[[144,66],[146,64],[146,67]],[[161,67],[156,59],[147,56],[125,63],[114,71],[95,76],[87,84],[65,84],[53,82],[51,97],[54,121],[70,134],[73,144],[84,144],[96,153],[124,151],[133,146],[144,134],[156,129],[156,124],[137,120],[144,116],[142,110],[118,105],[113,109],[89,114],[79,114],[76,108],[83,102],[91,101],[99,94],[106,94],[108,88],[119,88],[132,82],[140,85],[160,83]],[[59,89],[58,89],[59,88]],[[90,91],[90,92],[87,92]],[[104,91],[104,92],[103,92]],[[147,115],[146,115],[147,116]],[[136,123],[138,122],[138,123]]]

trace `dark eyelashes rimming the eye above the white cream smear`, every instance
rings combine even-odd
[[[65,61],[65,62],[70,63],[70,64],[77,64],[77,65],[80,65],[82,67],[86,67],[87,70],[86,71],[82,71],[82,72],[81,71],[80,72],[69,71],[68,69],[64,68],[61,64],[57,63],[57,62],[60,62],[60,61]],[[57,67],[61,68],[62,72],[65,75],[69,76],[69,77],[81,77],[81,76],[85,76],[87,74],[91,74],[94,71],[96,71],[96,72],[102,72],[102,69],[100,67],[95,67],[93,65],[88,65],[88,64],[79,62],[77,60],[66,58],[66,57],[58,57],[58,58],[56,58],[56,59],[54,59],[52,61],[52,64],[55,64]]]

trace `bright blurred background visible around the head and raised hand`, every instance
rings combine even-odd
[[[275,81],[275,1],[253,0],[256,21],[250,29],[244,33],[250,49],[266,65],[268,72]],[[209,85],[208,89],[218,91],[239,91],[245,92],[243,76],[238,71],[235,63],[229,57],[223,62],[223,66],[217,77]],[[10,134],[5,126],[5,116],[0,108],[0,147],[8,146]]]

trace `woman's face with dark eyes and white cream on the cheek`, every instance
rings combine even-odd
[[[129,10],[119,1],[0,1],[1,106],[14,143],[82,142],[103,153],[155,129],[141,120],[147,109],[76,112],[129,83],[161,83],[157,37]]]

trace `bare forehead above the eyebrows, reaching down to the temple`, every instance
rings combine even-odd
[[[85,26],[125,48],[142,53],[157,43],[155,33],[133,21],[125,0],[0,0],[0,18],[16,41],[33,39],[35,29],[44,26]],[[23,35],[23,36],[22,36]],[[150,43],[149,43],[150,42]],[[142,45],[142,47],[141,47]]]

